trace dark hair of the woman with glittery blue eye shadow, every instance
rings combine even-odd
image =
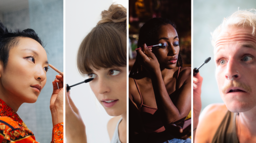
[[[159,32],[159,29],[163,25],[170,24],[172,25],[176,30],[176,25],[174,22],[170,21],[167,18],[152,18],[148,20],[141,28],[139,32],[139,40],[137,47],[139,48],[141,45],[146,43],[146,45],[154,45],[157,43],[157,33]],[[178,56],[178,62],[177,66],[182,67],[182,59],[181,55],[179,53]],[[138,63],[138,60],[136,58],[136,61],[133,65],[133,68],[131,69],[130,75],[135,75],[137,73],[140,73],[142,71],[145,71],[145,69]]]

